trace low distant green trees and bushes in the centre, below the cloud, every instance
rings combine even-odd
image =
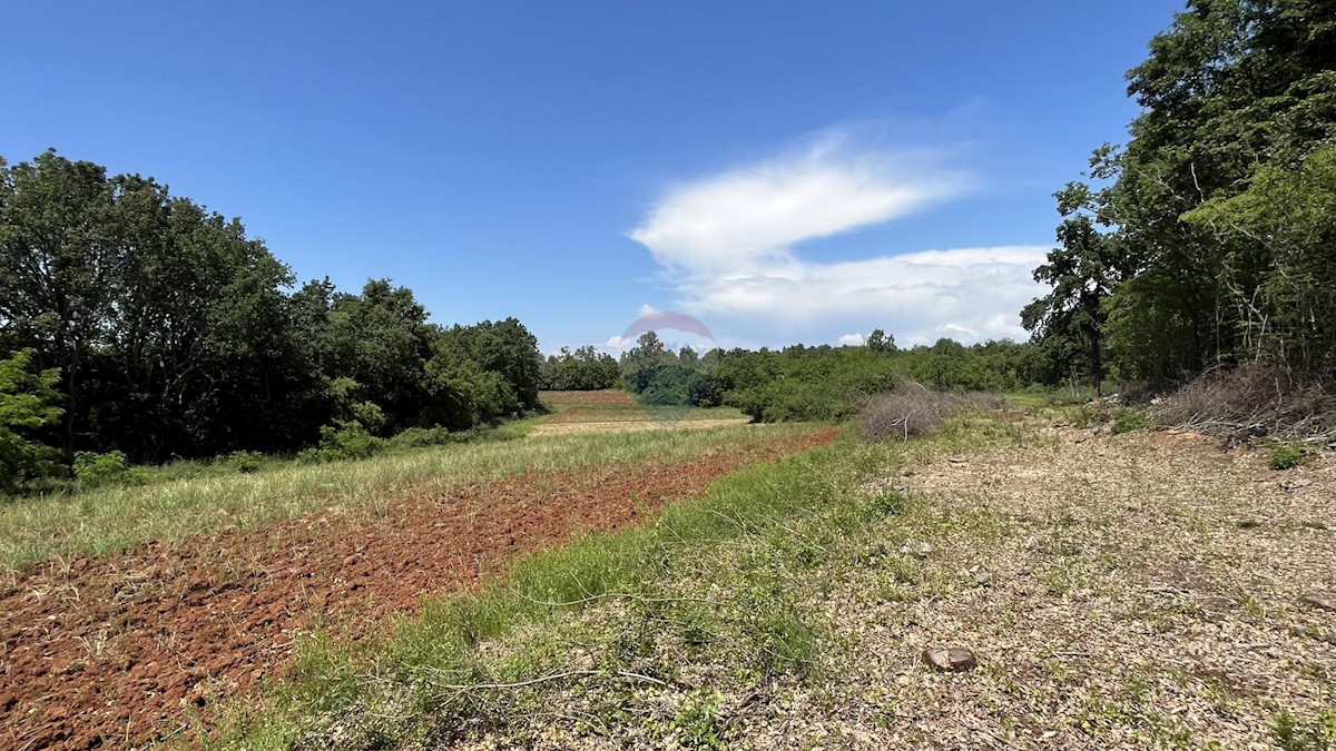
[[[649,331],[621,357],[621,382],[648,405],[735,406],[755,420],[844,420],[863,397],[914,381],[945,392],[1019,392],[1061,384],[1062,365],[1030,343],[939,339],[899,349],[874,331],[866,346],[791,346],[697,354]]]

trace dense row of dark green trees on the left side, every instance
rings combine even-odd
[[[387,279],[294,282],[239,220],[151,178],[0,160],[0,485],[79,452],[285,453],[538,406],[518,321],[442,327]]]

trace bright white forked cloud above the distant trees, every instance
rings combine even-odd
[[[959,195],[970,183],[931,170],[923,152],[858,150],[831,131],[807,150],[679,186],[631,237],[663,267],[673,306],[711,321],[819,337],[882,327],[902,345],[1025,338],[1018,311],[1038,294],[1030,273],[1047,246],[827,262],[794,250]]]

